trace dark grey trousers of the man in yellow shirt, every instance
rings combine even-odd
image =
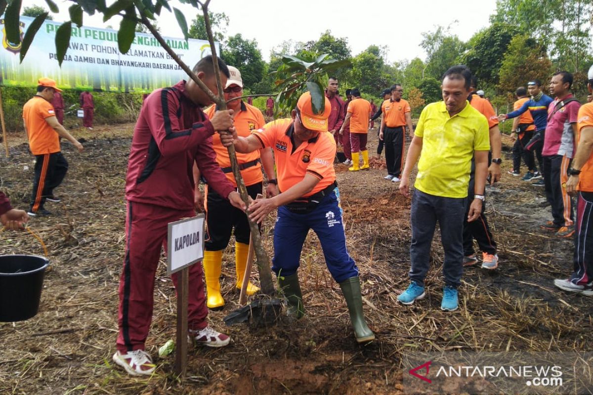
[[[448,198],[415,190],[412,197],[412,244],[410,245],[410,280],[424,286],[429,268],[432,237],[438,221],[445,251],[445,285],[457,288],[463,274],[463,218],[465,198]]]

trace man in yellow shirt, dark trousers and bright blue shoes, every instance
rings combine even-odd
[[[409,196],[410,172],[419,157],[420,161],[412,198],[411,283],[397,298],[403,304],[412,304],[426,295],[424,279],[438,221],[445,251],[441,310],[458,308],[457,287],[463,273],[463,220],[471,158],[476,158],[476,184],[468,221],[476,220],[482,211],[490,150],[488,122],[467,101],[470,82],[471,72],[466,66],[453,66],[445,72],[444,101],[429,104],[422,110],[407,153],[400,184],[400,192],[406,197]]]

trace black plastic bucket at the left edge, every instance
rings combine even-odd
[[[0,322],[37,314],[49,261],[37,255],[0,255]]]

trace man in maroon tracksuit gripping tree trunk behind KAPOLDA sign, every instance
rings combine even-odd
[[[219,60],[222,86],[229,71]],[[200,60],[193,72],[217,92],[212,57]],[[215,130],[232,130],[232,111],[208,119],[202,107],[211,99],[193,81],[157,89],[144,101],[134,129],[126,176],[126,256],[119,286],[119,335],[113,361],[129,374],[150,375],[155,367],[144,351],[152,319],[154,278],[167,224],[195,216],[193,163],[219,195],[244,210],[243,201],[216,162]],[[165,248],[166,251],[166,248]],[[177,285],[177,275],[173,282]],[[227,335],[208,326],[200,262],[189,269],[189,335],[196,343],[221,347]]]

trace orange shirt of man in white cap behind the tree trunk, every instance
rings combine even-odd
[[[208,118],[212,118],[215,111],[216,108],[212,105],[211,107],[206,108],[205,113],[208,115]],[[251,134],[251,131],[260,129],[266,122],[264,121],[262,111],[260,111],[259,108],[241,102],[241,110],[235,114],[234,124],[239,136],[248,137]],[[222,145],[221,137],[218,133],[214,133],[212,136],[212,148],[214,149],[214,152],[216,152],[216,162],[218,162],[218,165],[221,166],[222,169],[228,170],[231,167],[231,159],[228,156],[227,147]],[[250,153],[237,152],[237,162],[239,162],[239,165],[254,162],[258,159],[260,159],[259,151]],[[228,181],[232,182],[232,184],[237,187],[237,181],[235,181],[235,176],[232,175],[232,172],[225,172],[225,175],[227,176]],[[243,176],[243,182],[245,182],[245,185],[247,186],[262,182],[262,165],[260,165],[259,162],[253,163],[253,165],[241,170],[241,176]]]

